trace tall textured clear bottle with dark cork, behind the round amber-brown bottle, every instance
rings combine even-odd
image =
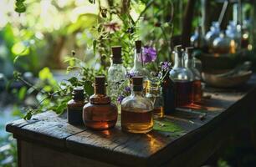
[[[112,47],[111,65],[108,70],[108,94],[115,104],[119,96],[120,85],[125,82],[126,69],[122,64],[121,47]]]

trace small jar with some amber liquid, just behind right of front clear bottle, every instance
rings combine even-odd
[[[153,114],[154,118],[162,118],[164,115],[163,111],[163,98],[161,93],[161,86],[157,83],[151,82],[150,87],[148,88],[146,98],[150,99],[153,103]]]

